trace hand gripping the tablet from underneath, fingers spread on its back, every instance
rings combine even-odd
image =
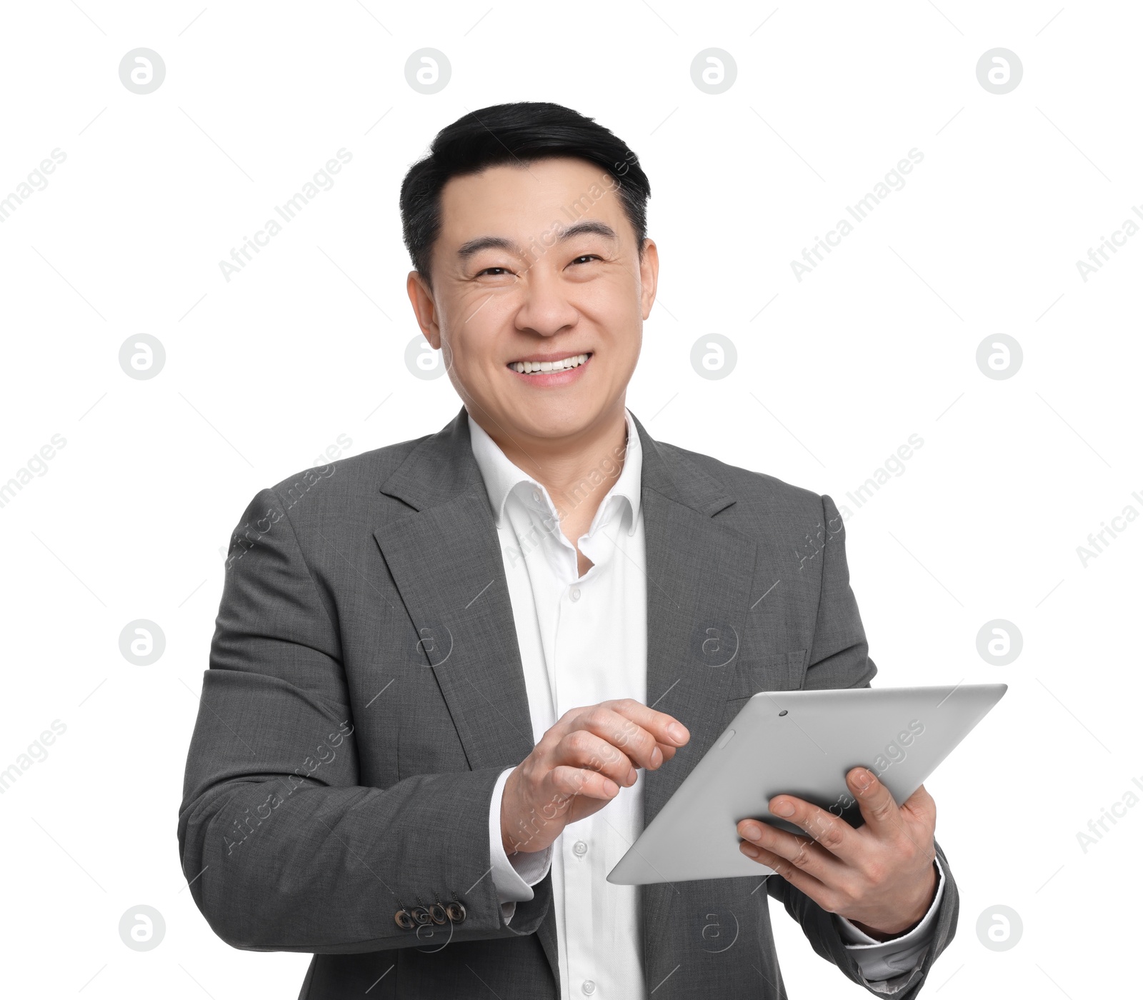
[[[921,785],[898,807],[889,790],[863,767],[853,768],[846,784],[864,826],[854,829],[792,795],[775,795],[770,813],[809,835],[743,819],[738,848],[871,937],[895,937],[920,921],[936,893],[936,802]]]

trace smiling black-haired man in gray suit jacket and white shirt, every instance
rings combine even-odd
[[[757,879],[606,881],[744,698],[876,673],[833,502],[625,409],[649,193],[559,105],[443,129],[401,213],[464,408],[234,535],[179,846],[223,939],[314,953],[303,998],[784,997],[767,894],[877,993],[952,938],[933,800],[864,768],[861,829],[788,795],[807,835],[738,824]]]

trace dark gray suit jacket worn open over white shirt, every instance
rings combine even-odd
[[[868,686],[877,667],[828,496],[639,434],[648,702],[692,734],[640,778],[649,822],[744,698]],[[704,651],[716,634],[738,637],[726,665]],[[558,997],[550,877],[505,925],[489,875],[493,785],[531,747],[463,410],[254,498],[231,543],[178,821],[183,871],[219,937],[312,952],[310,1000]],[[640,889],[656,1000],[785,995],[760,882]],[[862,982],[831,915],[776,875],[766,885]],[[427,923],[407,929],[402,911]],[[934,944],[897,998],[917,994],[956,921],[950,877]]]

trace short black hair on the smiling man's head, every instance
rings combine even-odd
[[[453,178],[505,163],[527,166],[553,157],[586,160],[618,184],[623,211],[642,257],[650,182],[623,139],[562,104],[521,101],[470,111],[442,128],[429,154],[401,183],[401,229],[413,266],[432,285],[429,264],[440,233],[440,193]]]

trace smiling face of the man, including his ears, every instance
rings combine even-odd
[[[554,442],[622,421],[658,259],[648,240],[640,262],[615,189],[574,159],[445,185],[432,290],[414,272],[409,298],[494,438]]]

